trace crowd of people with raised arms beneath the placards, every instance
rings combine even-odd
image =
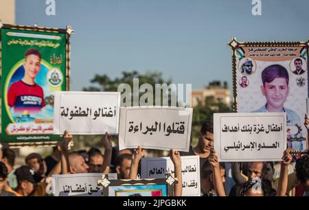
[[[305,124],[309,124],[306,118]],[[146,150],[119,150],[113,147],[111,135],[102,137],[104,154],[98,148],[69,152],[72,135],[68,131],[52,154],[43,158],[32,153],[25,164],[15,168],[15,153],[0,150],[0,196],[47,196],[46,178],[53,174],[117,173],[118,179],[140,178],[140,161]],[[170,150],[174,164],[174,196],[182,196],[181,156],[200,157],[201,196],[309,196],[309,155],[292,156],[292,148],[282,154],[281,162],[231,163],[231,176],[236,185],[225,189],[227,170],[219,163],[214,150],[212,121],[205,121],[198,132],[198,143],[189,152]]]

